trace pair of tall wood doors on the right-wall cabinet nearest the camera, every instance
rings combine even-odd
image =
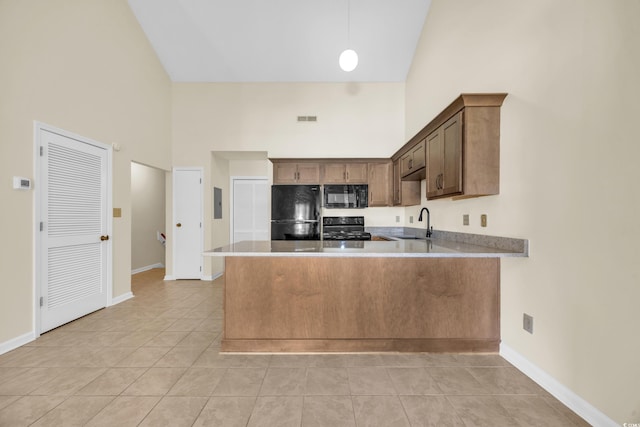
[[[427,136],[427,199],[462,194],[462,114]]]

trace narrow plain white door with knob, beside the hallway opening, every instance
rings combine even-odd
[[[173,276],[202,277],[202,169],[173,170]]]

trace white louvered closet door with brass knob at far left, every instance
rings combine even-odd
[[[106,306],[110,245],[107,150],[41,132],[40,332],[46,332]]]

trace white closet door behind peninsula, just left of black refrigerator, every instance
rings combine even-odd
[[[269,197],[266,178],[233,179],[232,243],[269,240]]]

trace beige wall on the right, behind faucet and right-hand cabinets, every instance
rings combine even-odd
[[[530,239],[502,263],[503,343],[619,423],[640,422],[638,16],[625,0],[434,0],[406,94],[410,136],[461,92],[509,93],[500,195],[426,205],[436,228]]]

